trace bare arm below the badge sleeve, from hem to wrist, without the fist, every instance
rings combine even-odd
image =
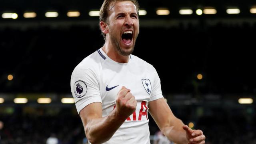
[[[102,117],[102,104],[94,102],[80,111],[84,131],[88,140],[93,143],[102,143],[109,140],[124,120],[118,118],[113,110],[108,116]]]

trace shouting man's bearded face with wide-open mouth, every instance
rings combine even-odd
[[[136,6],[131,1],[117,2],[108,15],[108,34],[114,48],[123,56],[132,54],[139,34]]]

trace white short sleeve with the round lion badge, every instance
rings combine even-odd
[[[102,103],[97,75],[92,70],[75,68],[71,76],[70,87],[78,114],[88,104]]]

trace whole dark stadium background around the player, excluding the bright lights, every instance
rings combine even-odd
[[[152,64],[162,92],[174,114],[201,129],[207,144],[255,144],[256,6],[252,0],[140,0],[134,55]],[[70,76],[83,58],[104,44],[98,28],[102,0],[4,0],[0,14],[0,130],[1,144],[44,144],[55,133],[62,144],[82,144],[84,131],[72,98]],[[216,14],[196,14],[215,8]],[[227,14],[239,8],[239,14]],[[169,10],[157,15],[156,10]],[[180,9],[193,14],[181,15]],[[68,11],[80,16],[68,17]],[[35,12],[35,18],[24,18]],[[47,18],[46,12],[58,12]],[[2,15],[3,16],[3,15]],[[200,75],[201,74],[201,75]],[[11,76],[12,75],[12,76]],[[202,77],[202,79],[200,79]],[[27,98],[17,104],[15,98]],[[38,98],[50,98],[39,104]],[[49,100],[49,99],[48,99]],[[150,116],[149,116],[150,117]],[[150,133],[158,130],[150,117]],[[1,127],[1,126],[0,126]]]

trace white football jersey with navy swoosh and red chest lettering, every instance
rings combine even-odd
[[[100,48],[76,66],[70,86],[78,114],[88,104],[101,102],[102,116],[114,110],[122,86],[130,89],[138,101],[136,110],[104,144],[150,144],[148,102],[163,98],[160,78],[151,64],[134,55],[128,63],[118,63]]]

